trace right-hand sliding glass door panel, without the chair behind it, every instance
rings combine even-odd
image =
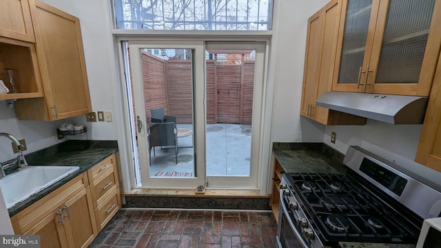
[[[210,188],[257,188],[265,43],[207,42],[206,172]]]

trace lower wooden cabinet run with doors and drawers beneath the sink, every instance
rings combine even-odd
[[[92,180],[90,180],[92,179]],[[121,208],[116,154],[11,217],[15,234],[41,247],[88,247]]]

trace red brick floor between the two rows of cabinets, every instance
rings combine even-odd
[[[271,212],[121,209],[90,247],[276,247]]]

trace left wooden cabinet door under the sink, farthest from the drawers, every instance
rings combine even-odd
[[[39,235],[41,247],[68,247],[59,209],[48,214],[48,216],[43,218],[37,225],[34,225],[34,227],[26,231],[25,234]]]

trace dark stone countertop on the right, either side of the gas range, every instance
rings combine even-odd
[[[325,143],[273,143],[273,154],[285,173],[339,173],[347,167],[342,161],[344,154]],[[367,242],[339,242],[341,248],[414,248],[415,245],[383,244]]]

